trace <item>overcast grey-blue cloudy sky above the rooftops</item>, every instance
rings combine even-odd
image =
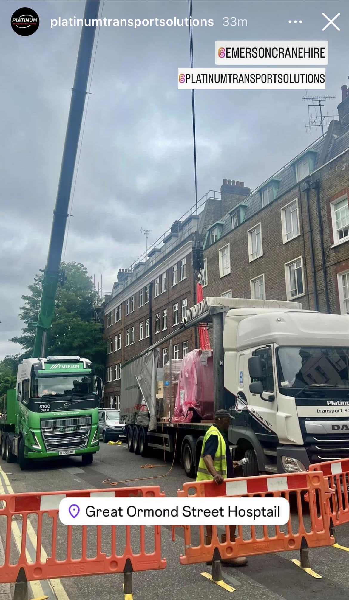
[[[27,3],[40,17],[29,37],[10,26],[22,5],[1,5],[0,358],[20,350],[8,338],[20,334],[21,296],[46,262],[74,79],[80,28],[51,29],[50,20],[80,18],[85,3]],[[322,13],[339,11],[341,31],[321,31]],[[187,14],[181,0],[106,0],[102,16]],[[226,16],[247,19],[247,27],[224,27]],[[335,95],[326,109],[336,112],[349,75],[344,0],[193,0],[193,17],[214,19],[214,27],[193,28],[195,67],[214,67],[215,40],[329,40],[327,89],[312,94]],[[141,227],[151,230],[151,244],[195,203],[191,92],[177,89],[177,68],[189,57],[188,28],[99,31],[65,260],[82,262],[96,280],[102,274],[103,292],[145,250]],[[223,178],[255,188],[319,137],[306,131],[303,95],[196,91],[199,197],[219,190]]]

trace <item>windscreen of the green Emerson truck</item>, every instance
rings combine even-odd
[[[32,376],[32,398],[46,396],[79,396],[97,394],[96,377],[93,373],[57,376]]]

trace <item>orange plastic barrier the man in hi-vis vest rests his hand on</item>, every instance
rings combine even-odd
[[[309,515],[303,515],[302,509],[306,493],[317,499],[317,505],[309,503]],[[178,490],[178,497],[285,497],[288,502],[291,501],[291,509],[293,503],[297,504],[297,514],[293,514],[291,510],[290,520],[285,526],[238,525],[234,541],[230,541],[229,526],[225,527],[222,540],[217,535],[217,526],[213,526],[209,544],[205,544],[204,526],[185,525],[185,554],[180,556],[180,563],[187,565],[211,561],[215,548],[218,548],[221,559],[230,559],[299,550],[306,545],[309,548],[333,545],[335,538],[330,535],[330,517],[327,512],[327,500],[333,494],[323,474],[317,472],[226,479],[221,485],[216,485],[213,481],[184,484],[183,490]],[[198,530],[196,536],[195,530]],[[174,534],[175,527],[172,527],[173,539]]]

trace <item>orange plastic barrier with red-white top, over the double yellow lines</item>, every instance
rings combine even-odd
[[[118,490],[77,490],[53,493],[7,494],[0,496],[0,516],[7,517],[5,560],[0,566],[0,582],[16,581],[20,568],[27,581],[77,577],[79,575],[102,575],[121,573],[132,565],[133,571],[165,569],[162,559],[161,528],[139,527],[139,535],[133,526],[66,526],[59,520],[59,502],[67,498],[96,497],[163,497],[157,485],[120,488]],[[12,520],[20,527],[22,515],[22,544],[17,560],[11,545]],[[26,558],[28,521],[37,535],[37,547],[33,562]],[[153,535],[151,535],[153,529]],[[146,535],[147,533],[147,535]],[[150,539],[151,538],[151,539]],[[145,546],[151,542],[151,551]],[[41,560],[41,545],[47,554]],[[61,548],[64,547],[64,557]],[[76,556],[76,555],[79,556]],[[132,569],[128,568],[129,571]],[[127,570],[127,569],[126,569]]]

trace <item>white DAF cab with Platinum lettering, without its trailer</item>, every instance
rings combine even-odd
[[[246,475],[349,456],[349,316],[236,308],[223,328],[225,405]]]

